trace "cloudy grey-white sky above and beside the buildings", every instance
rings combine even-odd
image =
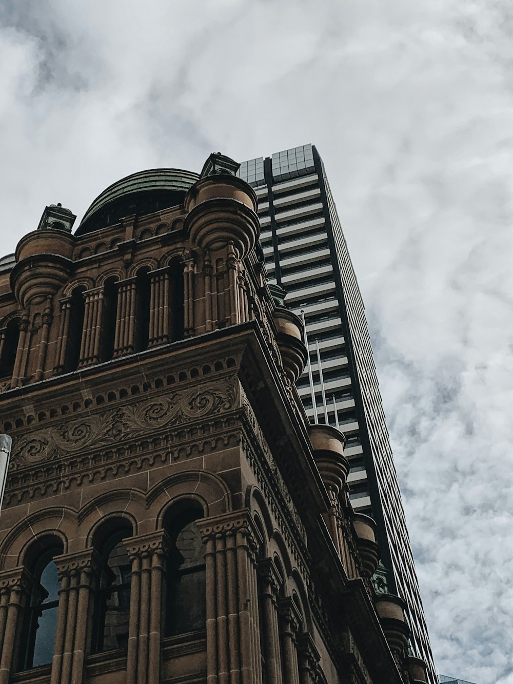
[[[0,0],[3,254],[131,172],[317,145],[434,657],[477,684],[513,683],[512,7]]]

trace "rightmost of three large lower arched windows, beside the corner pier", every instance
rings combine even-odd
[[[205,547],[196,520],[198,510],[186,510],[168,527],[172,551],[168,564],[166,635],[205,629],[207,588]]]

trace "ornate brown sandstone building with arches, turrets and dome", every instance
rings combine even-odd
[[[411,684],[252,188],[129,176],[0,261],[0,684]]]

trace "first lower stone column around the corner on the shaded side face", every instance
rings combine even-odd
[[[263,651],[265,654],[265,681],[282,683],[280,633],[278,629],[279,575],[271,558],[259,561],[261,588],[261,620]]]

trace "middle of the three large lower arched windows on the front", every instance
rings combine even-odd
[[[132,535],[118,528],[103,542],[93,615],[92,651],[99,653],[128,644],[132,564],[124,540]]]

